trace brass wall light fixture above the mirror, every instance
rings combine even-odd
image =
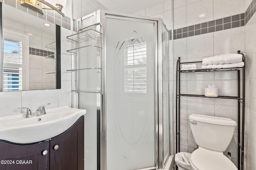
[[[66,0],[51,0],[51,3],[45,0],[20,0],[20,4],[41,14],[44,14],[42,4],[45,4],[46,6],[50,7],[46,9],[55,10],[62,16],[65,16],[61,10],[66,6],[66,2]]]

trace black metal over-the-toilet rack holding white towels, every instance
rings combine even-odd
[[[181,70],[180,64],[188,64],[188,63],[202,63],[202,61],[196,62],[185,62],[180,63],[180,57],[178,58],[176,64],[176,153],[180,152],[180,97],[200,97],[200,98],[222,98],[222,99],[234,99],[238,100],[238,169],[244,169],[244,112],[245,112],[245,58],[244,54],[237,51],[238,54],[242,55],[242,60],[244,62],[243,67],[234,67],[234,68],[220,68],[220,69],[195,69],[195,70]],[[182,72],[206,72],[206,71],[237,71],[237,86],[238,86],[238,95],[237,96],[217,96],[217,97],[207,97],[204,95],[198,94],[181,94],[180,93],[180,73]],[[242,97],[240,97],[240,70],[242,70]],[[242,103],[242,115],[240,111],[240,103]],[[242,127],[241,126],[241,116],[242,116]],[[178,123],[177,123],[178,122]],[[242,134],[240,140],[240,133]],[[178,142],[177,142],[178,141]],[[241,152],[241,154],[240,154]]]

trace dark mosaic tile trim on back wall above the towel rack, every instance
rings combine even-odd
[[[244,13],[173,30],[173,39],[244,26]]]

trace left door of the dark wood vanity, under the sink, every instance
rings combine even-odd
[[[0,164],[0,170],[49,169],[50,154],[42,154],[44,150],[49,152],[49,143],[49,141],[33,145],[0,143],[0,160],[6,161],[6,164]]]

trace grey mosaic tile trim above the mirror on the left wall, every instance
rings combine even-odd
[[[56,12],[54,10],[45,10],[44,9],[43,10],[44,14],[40,14],[39,12],[36,12],[26,6],[21,5],[20,0],[3,0],[3,3],[13,6],[14,8],[17,8],[18,10],[22,10],[24,12],[32,14],[33,16],[36,16],[38,18],[42,18],[46,21],[49,21],[56,25],[59,25],[63,28],[71,30],[71,19],[67,16],[63,17],[62,15],[60,15],[58,12]]]

